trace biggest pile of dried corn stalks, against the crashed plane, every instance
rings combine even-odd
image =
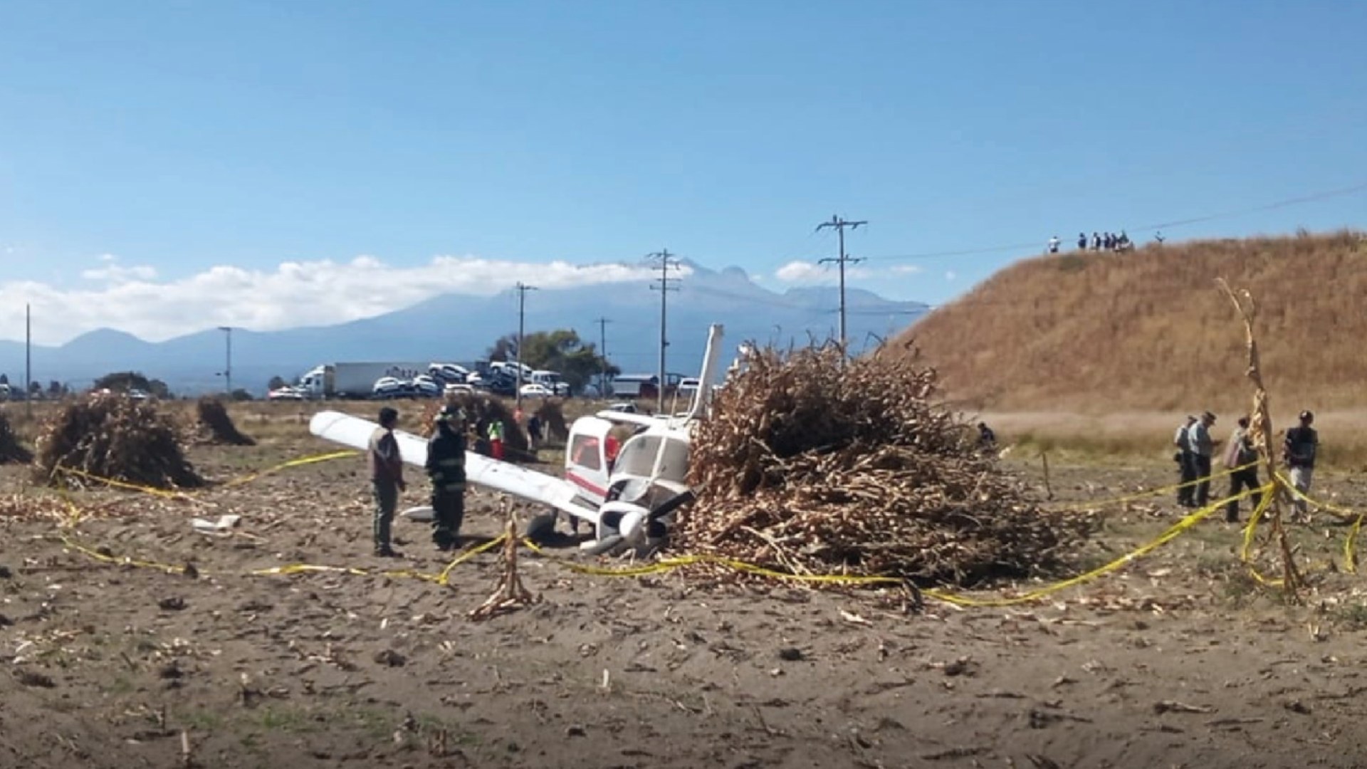
[[[1040,509],[932,404],[934,369],[757,353],[693,439],[675,542],[794,573],[973,584],[1062,566],[1089,521]]]

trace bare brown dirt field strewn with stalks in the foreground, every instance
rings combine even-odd
[[[227,479],[332,449],[298,424],[190,458]],[[1036,460],[1005,467],[1039,479]],[[539,603],[483,623],[466,613],[498,580],[493,551],[447,586],[250,573],[440,572],[421,524],[395,524],[399,562],[369,556],[361,468],[293,468],[193,502],[82,493],[68,542],[60,499],[26,488],[27,468],[0,468],[0,766],[1367,765],[1367,598],[1341,571],[1346,530],[1331,517],[1295,532],[1304,603],[1256,586],[1219,514],[1046,601],[919,613],[868,590],[589,576],[525,550]],[[1073,504],[1173,482],[1156,462],[1051,469]],[[421,504],[427,483],[411,468],[410,480],[403,502]],[[1367,508],[1346,475],[1316,493]],[[499,534],[491,494],[469,508],[468,536]],[[1079,569],[1185,510],[1163,494],[1102,512]],[[187,523],[224,513],[243,516],[231,535]]]

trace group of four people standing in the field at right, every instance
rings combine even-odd
[[[1290,483],[1300,494],[1296,497],[1296,510],[1305,516],[1307,505],[1304,495],[1310,493],[1311,476],[1315,472],[1315,454],[1319,450],[1319,435],[1311,424],[1315,415],[1308,410],[1300,412],[1300,424],[1286,431],[1282,442],[1282,460],[1290,468]],[[1210,436],[1210,430],[1215,427],[1215,415],[1204,412],[1200,417],[1188,415],[1173,435],[1173,446],[1177,452],[1173,460],[1177,461],[1181,486],[1177,487],[1177,504],[1184,508],[1204,508],[1210,502],[1210,476],[1213,457],[1218,441]],[[1245,488],[1255,490],[1249,499],[1256,509],[1262,502],[1258,482],[1258,449],[1252,443],[1248,432],[1248,417],[1239,417],[1239,426],[1229,436],[1221,460],[1229,469],[1229,495],[1237,497]],[[1239,499],[1232,498],[1225,505],[1225,520],[1239,521]]]

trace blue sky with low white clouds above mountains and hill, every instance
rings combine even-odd
[[[781,290],[834,281],[833,213],[854,285],[932,304],[1039,248],[902,257],[1348,187],[1165,234],[1362,227],[1364,34],[1342,0],[8,1],[0,338],[22,301],[164,338],[660,248]]]

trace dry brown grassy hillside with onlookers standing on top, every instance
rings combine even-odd
[[[1234,413],[1249,394],[1244,333],[1215,278],[1262,305],[1275,412],[1367,405],[1367,242],[1349,231],[1031,259],[891,348],[915,341],[973,410]]]

